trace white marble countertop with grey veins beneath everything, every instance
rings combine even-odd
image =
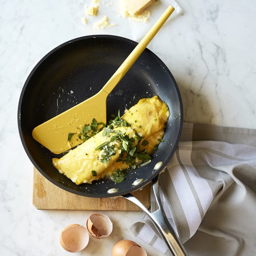
[[[92,0],[84,0],[88,5]],[[104,3],[105,2],[105,3]],[[102,1],[116,4],[117,1]],[[165,1],[163,1],[165,2]],[[179,0],[183,12],[168,22],[149,49],[160,57],[178,83],[184,119],[224,126],[256,128],[256,1]],[[33,165],[21,145],[17,105],[33,66],[65,41],[88,35],[114,34],[139,40],[149,24],[109,16],[116,26],[93,29],[81,21],[82,1],[0,1],[0,255],[70,255],[59,244],[61,230],[85,225],[89,211],[37,210],[32,204]],[[99,15],[103,14],[103,10]],[[96,18],[95,20],[96,21]],[[142,212],[107,212],[114,223],[110,237],[90,239],[77,255],[111,255],[119,239],[136,239],[129,225]]]

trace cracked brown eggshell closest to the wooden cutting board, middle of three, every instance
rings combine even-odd
[[[108,216],[100,213],[92,213],[86,224],[89,234],[97,239],[109,236],[113,230],[113,223]]]

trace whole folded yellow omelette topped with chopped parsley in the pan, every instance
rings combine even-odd
[[[168,107],[158,96],[140,99],[77,148],[59,159],[53,158],[53,165],[76,184],[135,169],[150,161],[162,141],[168,117]]]

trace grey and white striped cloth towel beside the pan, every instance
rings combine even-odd
[[[255,129],[184,123],[159,184],[165,214],[190,256],[256,255]],[[171,255],[147,216],[130,228]]]

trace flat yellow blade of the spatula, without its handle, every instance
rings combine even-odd
[[[78,138],[78,133],[85,124],[91,124],[93,118],[106,123],[107,95],[107,92],[99,91],[91,98],[38,125],[33,129],[33,138],[55,154],[81,144],[83,141]],[[75,133],[70,141],[69,133]]]

